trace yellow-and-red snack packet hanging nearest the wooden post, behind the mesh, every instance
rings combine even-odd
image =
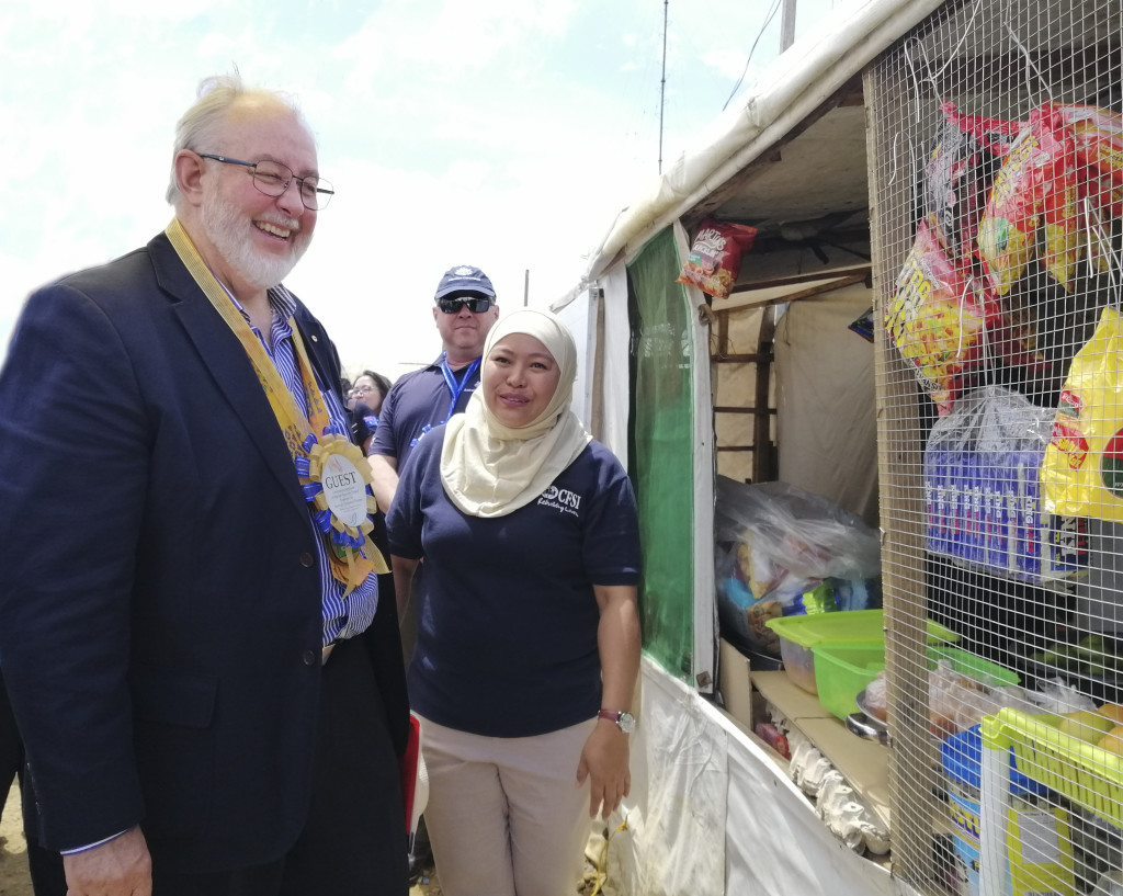
[[[977,290],[967,268],[953,265],[926,221],[916,227],[885,312],[885,329],[940,414],[951,410],[999,322],[989,291]]]

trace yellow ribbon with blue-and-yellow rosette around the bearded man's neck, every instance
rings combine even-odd
[[[328,508],[327,496],[320,485],[320,475],[323,461],[330,455],[340,455],[348,460],[360,473],[367,485],[371,483],[371,467],[366,463],[366,458],[363,457],[363,451],[358,446],[353,445],[346,435],[340,436],[328,431],[331,418],[328,414],[323,395],[320,394],[320,387],[316,382],[316,375],[308,357],[308,349],[301,339],[300,330],[296,329],[295,320],[289,318],[289,328],[292,330],[298,367],[308,400],[308,418],[304,417],[292,393],[289,392],[281,374],[277,373],[276,365],[265,353],[261,340],[254,336],[254,331],[235,308],[226,290],[207,267],[180,221],[173,219],[164,232],[180,256],[180,260],[199,284],[199,289],[222,316],[222,320],[238,337],[249,357],[249,363],[257,374],[257,380],[265,391],[270,408],[273,409],[277,426],[281,427],[285,444],[289,446],[289,452],[296,466],[304,495],[317,511],[317,524],[325,531],[327,538],[331,575],[346,586],[344,596],[362,585],[371,573],[376,575],[389,573],[385,559],[368,538],[374,528],[371,520],[364,519],[358,527],[351,527],[339,520]],[[319,430],[320,435],[314,435],[313,430]],[[368,494],[368,512],[373,513],[376,508],[374,497]],[[337,534],[332,536],[332,532]]]

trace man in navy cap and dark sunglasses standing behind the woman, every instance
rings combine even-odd
[[[499,318],[495,290],[478,267],[449,268],[437,284],[433,320],[444,350],[432,364],[399,377],[382,403],[371,444],[374,496],[385,512],[398,474],[418,441],[433,427],[467,406],[480,385],[480,355]],[[398,595],[399,610],[409,595]]]

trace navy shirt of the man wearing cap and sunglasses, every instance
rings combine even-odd
[[[444,355],[441,356],[441,358]],[[440,368],[441,358],[420,371],[399,377],[391,386],[382,408],[378,410],[378,428],[371,442],[371,455],[389,455],[398,460],[398,475],[405,469],[413,447],[433,427],[448,422],[453,393],[445,382]],[[468,367],[454,372],[460,383]],[[472,376],[464,381],[464,388],[456,400],[453,413],[460,413],[468,406],[468,399],[480,385],[478,365]]]

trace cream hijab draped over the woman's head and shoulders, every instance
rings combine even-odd
[[[569,410],[577,346],[568,328],[546,311],[513,311],[487,333],[484,367],[495,344],[510,333],[532,336],[546,346],[562,377],[546,410],[524,427],[512,429],[499,421],[484,401],[482,380],[464,413],[445,426],[440,479],[449,500],[469,516],[505,516],[529,504],[593,438]]]

